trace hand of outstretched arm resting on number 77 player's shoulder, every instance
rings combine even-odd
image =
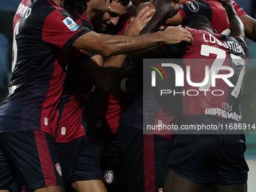
[[[165,44],[178,44],[181,41],[187,41],[187,43],[194,44],[194,38],[190,32],[181,26],[169,26],[162,33]]]

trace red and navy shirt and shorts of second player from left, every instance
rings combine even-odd
[[[93,26],[87,17],[76,11],[70,11],[70,14],[78,24],[87,26],[93,31]],[[93,83],[79,65],[79,61],[86,62],[94,55],[85,50],[72,52],[59,103],[56,142],[66,187],[75,181],[102,180],[99,160],[93,155],[93,145],[85,136],[84,127],[81,124],[84,105]]]

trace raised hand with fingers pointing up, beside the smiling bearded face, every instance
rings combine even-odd
[[[139,11],[135,19],[127,26],[124,35],[139,35],[139,32],[147,25],[155,13],[153,6],[146,6]]]

